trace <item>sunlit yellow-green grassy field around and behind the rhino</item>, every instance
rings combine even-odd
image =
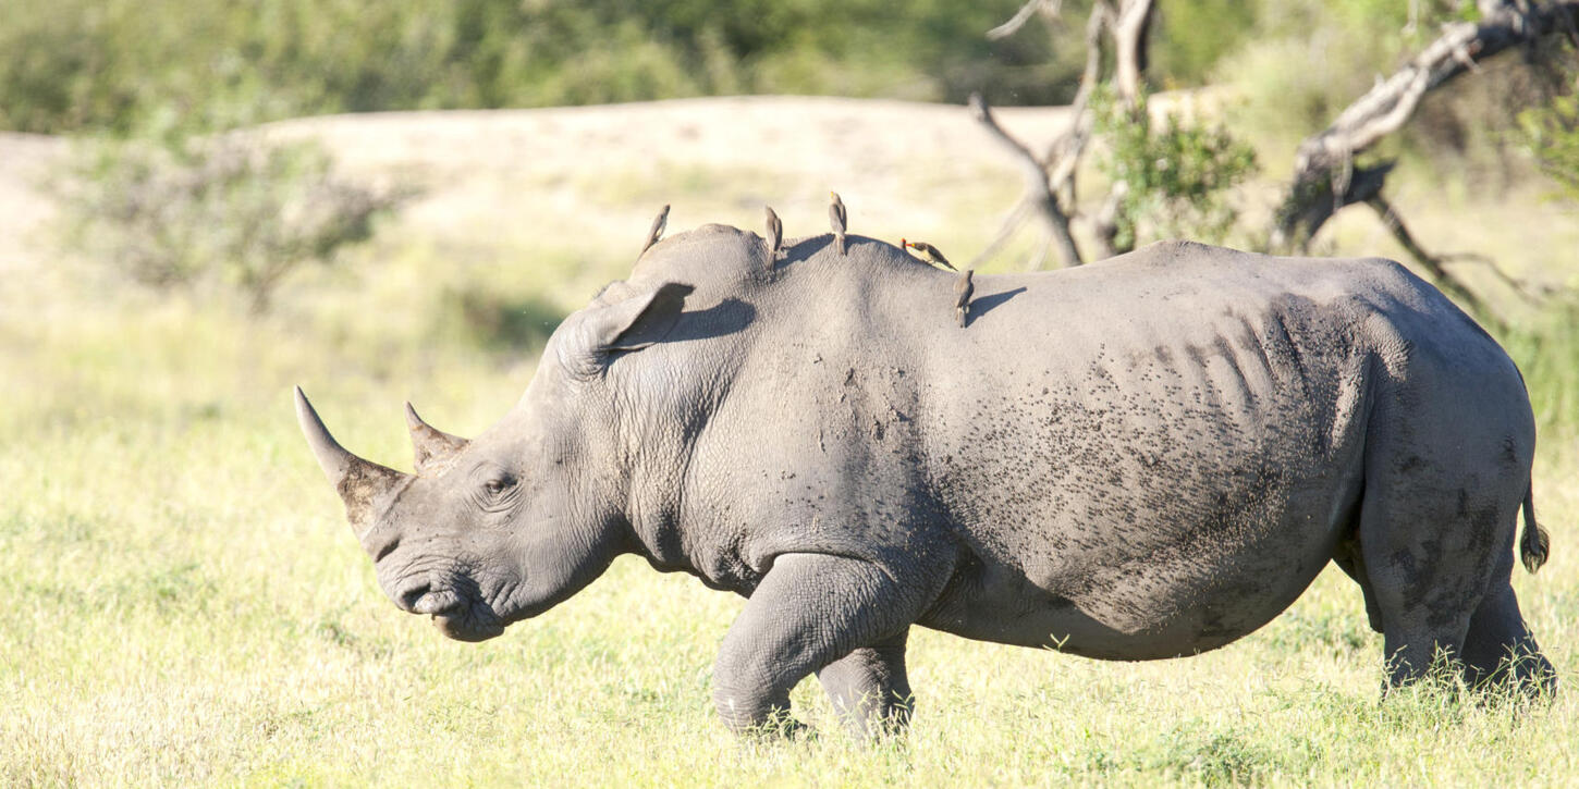
[[[917,112],[925,126],[932,110]],[[799,235],[821,229],[832,181],[873,235],[919,226],[968,249],[990,237],[1017,181],[987,156],[932,155],[867,170],[785,159],[744,175],[676,158],[583,163],[581,180],[545,164],[516,193],[485,185],[445,202],[433,191],[347,271],[292,282],[256,320],[224,300],[128,290],[81,260],[9,264],[0,784],[1579,781],[1579,335],[1563,316],[1527,316],[1508,339],[1544,431],[1536,500],[1554,557],[1514,584],[1568,683],[1551,705],[1380,701],[1380,638],[1358,589],[1330,570],[1260,633],[1189,660],[1097,663],[917,631],[919,710],[905,740],[853,742],[808,682],[794,699],[816,735],[752,742],[711,710],[714,650],[741,600],[688,578],[622,559],[570,603],[478,645],[445,641],[377,590],[297,432],[291,385],[308,388],[351,448],[409,467],[401,401],[459,434],[502,415],[546,325],[627,270],[651,204],[674,202],[681,229],[755,229],[772,191]],[[1457,248],[1541,238],[1510,268],[1573,276],[1552,264],[1566,257],[1571,219],[1541,226],[1549,208],[1535,202],[1427,193],[1413,204],[1421,224],[1450,229]],[[521,219],[467,219],[469,205]],[[1478,234],[1451,221],[1476,211],[1508,219]],[[1337,251],[1393,254],[1348,221]],[[570,230],[545,230],[556,224]]]

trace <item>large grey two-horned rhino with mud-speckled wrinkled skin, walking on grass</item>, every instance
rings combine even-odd
[[[1337,562],[1393,683],[1440,649],[1554,686],[1510,587],[1524,385],[1402,267],[1162,243],[977,276],[962,330],[957,275],[895,246],[785,252],[720,226],[654,245],[486,432],[412,412],[415,477],[341,450],[298,393],[390,598],[480,641],[639,554],[750,598],[714,672],[728,726],[816,672],[880,731],[908,716],[911,625],[1194,655]],[[1544,559],[1533,522],[1522,552]]]

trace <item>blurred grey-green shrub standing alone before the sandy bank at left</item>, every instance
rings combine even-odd
[[[254,314],[294,270],[369,238],[404,197],[336,175],[313,142],[242,131],[88,142],[66,170],[71,246],[158,290],[238,290]]]

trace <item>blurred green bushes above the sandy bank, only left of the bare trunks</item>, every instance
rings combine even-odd
[[[0,129],[126,133],[159,112],[207,115],[227,96],[276,120],[764,88],[946,101],[990,88],[1007,103],[1066,95],[1078,62],[1050,73],[1045,35],[985,38],[1017,6],[9,0]]]

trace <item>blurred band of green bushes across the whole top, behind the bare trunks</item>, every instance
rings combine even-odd
[[[125,133],[161,110],[204,115],[227,95],[267,104],[264,120],[758,92],[1064,103],[1091,3],[1067,0],[1050,30],[1033,22],[988,41],[1020,5],[8,0],[0,129]],[[1252,101],[1263,122],[1287,115],[1303,133],[1440,22],[1473,14],[1456,0],[1170,0],[1157,5],[1151,79],[1244,84],[1270,99]]]

